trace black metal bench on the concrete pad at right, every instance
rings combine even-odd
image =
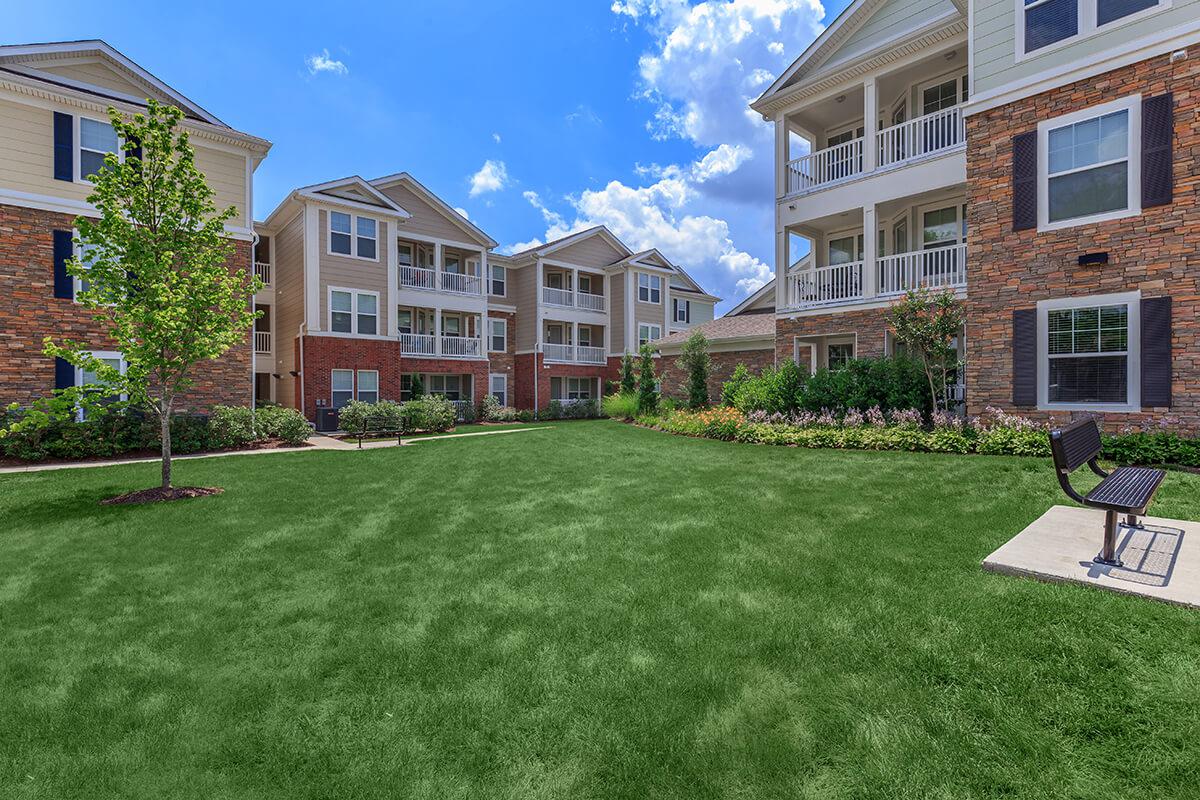
[[[1158,492],[1166,473],[1146,467],[1118,467],[1106,473],[1097,463],[1100,447],[1100,429],[1092,419],[1050,432],[1050,451],[1062,491],[1075,503],[1104,509],[1104,546],[1093,560],[1097,564],[1123,566],[1116,555],[1117,515],[1126,515],[1126,525],[1140,528],[1138,517],[1146,515],[1146,506]],[[1070,474],[1085,463],[1104,480],[1087,495],[1080,495],[1070,486]]]

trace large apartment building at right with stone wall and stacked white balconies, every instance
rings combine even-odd
[[[851,4],[752,104],[775,124],[778,357],[890,354],[888,306],[946,289],[967,413],[1195,429],[1196,167],[1171,154],[1196,143],[1198,12]]]

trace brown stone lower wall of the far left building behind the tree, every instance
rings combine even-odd
[[[53,231],[73,227],[72,215],[0,205],[0,405],[25,405],[54,391],[54,359],[42,354],[46,336],[83,342],[96,350],[116,349],[91,312],[54,296]],[[230,267],[250,270],[250,242],[235,241],[234,247]],[[247,331],[244,345],[199,365],[180,409],[248,405],[251,347]]]

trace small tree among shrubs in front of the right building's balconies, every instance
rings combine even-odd
[[[953,342],[964,320],[962,303],[953,291],[908,291],[888,311],[888,325],[896,341],[925,369],[935,410],[949,410],[946,389],[961,366]]]

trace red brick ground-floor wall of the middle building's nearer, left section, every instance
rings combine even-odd
[[[482,359],[403,357],[400,342],[346,336],[305,336],[298,348],[304,350],[304,414],[312,421],[318,408],[329,408],[334,369],[374,369],[379,373],[379,399],[400,399],[400,377],[421,374],[470,375],[472,397],[479,402],[487,393],[488,362]],[[299,341],[298,341],[299,342]],[[299,355],[299,353],[298,353]],[[299,363],[299,361],[298,361]],[[426,385],[426,390],[428,386]],[[295,405],[300,407],[299,397]]]

